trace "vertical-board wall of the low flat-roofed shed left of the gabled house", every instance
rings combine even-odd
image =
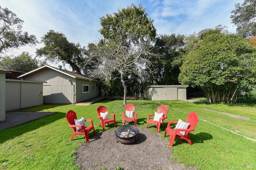
[[[43,82],[6,79],[6,111],[42,105],[42,84]]]

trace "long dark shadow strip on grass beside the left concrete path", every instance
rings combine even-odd
[[[66,116],[66,113],[56,112],[53,115],[42,117],[40,119],[30,121],[23,125],[19,125],[19,126],[12,127],[9,129],[3,129],[0,131],[0,136],[1,136],[0,144],[4,143],[5,141],[8,141],[10,139],[13,139],[15,137],[18,137],[24,133],[27,133],[29,131],[34,131],[35,129],[38,129],[38,128],[43,127],[48,124],[51,124],[54,121],[57,121],[58,119],[64,118],[65,116]]]

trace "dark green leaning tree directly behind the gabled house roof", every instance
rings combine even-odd
[[[81,74],[85,64],[86,49],[79,43],[70,43],[63,33],[48,31],[43,37],[44,47],[37,49],[38,56],[46,57],[48,61],[70,64],[72,69]]]

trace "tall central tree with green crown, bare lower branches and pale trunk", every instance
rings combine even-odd
[[[103,39],[97,44],[98,67],[93,76],[114,80],[119,78],[124,89],[126,105],[126,78],[142,75],[144,68],[153,64],[150,60],[151,43],[156,37],[153,21],[147,17],[140,4],[132,4],[113,15],[100,18]],[[113,77],[114,76],[114,77]]]

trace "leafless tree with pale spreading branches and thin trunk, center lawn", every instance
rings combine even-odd
[[[129,40],[126,40],[129,41]],[[112,77],[113,72],[118,72],[124,87],[124,95],[126,97],[126,84],[124,76],[138,75],[144,76],[144,70],[147,69],[147,74],[154,72],[154,64],[151,57],[158,57],[150,51],[150,43],[147,41],[138,42],[136,44],[124,43],[122,41],[103,41],[97,44],[97,51],[91,53],[97,58],[97,66],[92,71],[92,78],[100,78],[106,80],[107,76]],[[126,100],[124,102],[126,105]]]

